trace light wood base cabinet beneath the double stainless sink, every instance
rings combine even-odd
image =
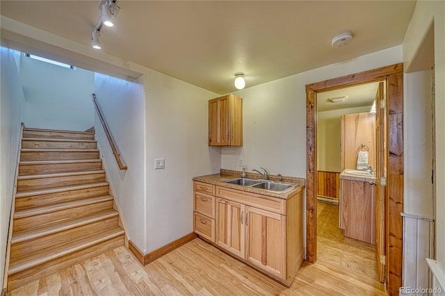
[[[200,187],[195,185],[195,188]],[[200,194],[195,190],[195,216],[201,215],[196,207],[196,197],[200,197]],[[301,189],[287,199],[281,199],[216,185],[213,196],[215,239],[212,240],[209,235],[202,236],[202,226],[196,219],[195,232],[241,261],[290,286],[304,256],[302,194]],[[211,219],[210,216],[206,217]]]

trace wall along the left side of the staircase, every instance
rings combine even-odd
[[[3,46],[0,50],[0,286],[3,288],[10,210],[25,100],[15,64],[14,56],[17,52]]]

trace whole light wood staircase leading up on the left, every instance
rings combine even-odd
[[[24,129],[8,290],[124,245],[94,133]]]

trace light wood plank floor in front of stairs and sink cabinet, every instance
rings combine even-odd
[[[22,286],[9,295],[385,295],[374,281],[328,263],[303,263],[291,288],[200,239],[143,267],[126,247]]]

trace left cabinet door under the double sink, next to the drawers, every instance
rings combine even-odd
[[[216,199],[216,244],[245,258],[245,206],[225,199]]]

